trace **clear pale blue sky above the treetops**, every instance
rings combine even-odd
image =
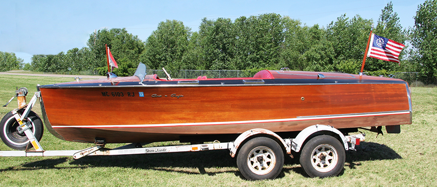
[[[198,31],[203,17],[235,20],[240,16],[276,13],[302,23],[326,27],[337,17],[360,15],[376,23],[390,0],[0,0],[0,51],[14,52],[24,62],[34,54],[57,54],[86,47],[89,35],[103,28],[126,28],[146,41],[166,19]],[[392,0],[403,28],[424,0]],[[363,49],[364,50],[364,49]]]

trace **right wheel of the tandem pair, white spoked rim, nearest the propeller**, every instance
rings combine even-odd
[[[310,177],[336,176],[344,169],[344,146],[332,136],[316,136],[303,146],[300,162]]]

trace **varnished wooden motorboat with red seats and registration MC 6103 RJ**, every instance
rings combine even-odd
[[[252,78],[171,80],[140,66],[132,77],[39,86],[47,129],[78,142],[198,142],[235,140],[254,128],[292,138],[316,124],[347,133],[412,123],[401,79],[263,70]]]

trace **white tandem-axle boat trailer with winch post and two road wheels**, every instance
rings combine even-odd
[[[27,89],[26,89],[27,90]],[[311,177],[326,177],[338,174],[344,168],[345,150],[355,150],[355,145],[365,140],[365,134],[344,136],[338,129],[329,125],[312,125],[303,129],[296,138],[283,139],[276,133],[262,128],[247,130],[234,141],[212,143],[142,147],[147,143],[131,143],[114,149],[105,148],[104,140],[96,140],[96,146],[84,150],[44,150],[34,136],[32,124],[25,120],[41,97],[35,92],[28,105],[20,115],[19,109],[12,113],[19,124],[17,130],[25,133],[34,150],[0,151],[0,156],[113,156],[154,153],[197,152],[228,149],[232,157],[237,156],[237,166],[244,177],[249,180],[273,179],[284,165],[284,152],[293,157],[292,152],[301,152],[300,162],[305,172]],[[11,99],[12,100],[12,99]],[[9,101],[10,102],[10,101]],[[25,102],[25,101],[24,101]]]

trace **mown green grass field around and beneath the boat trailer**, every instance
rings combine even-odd
[[[16,87],[72,81],[71,78],[0,75],[0,104]],[[136,156],[0,157],[0,186],[299,186],[299,187],[431,187],[437,186],[437,88],[411,88],[413,124],[402,125],[401,134],[366,132],[357,151],[346,152],[344,171],[337,177],[308,178],[296,159],[286,157],[275,180],[247,181],[229,151],[166,153]],[[30,100],[31,96],[28,96]],[[17,107],[14,100],[0,108],[0,117]],[[39,104],[34,109],[41,114]],[[385,129],[383,129],[385,132]],[[154,143],[151,146],[177,142]],[[45,150],[84,149],[92,144],[59,140],[45,131]],[[118,144],[119,145],[119,144]],[[118,145],[109,145],[110,148]],[[12,150],[0,142],[0,150]]]

